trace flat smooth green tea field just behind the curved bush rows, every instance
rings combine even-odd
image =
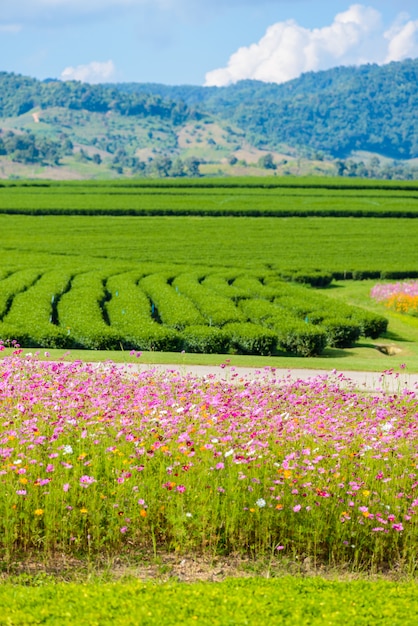
[[[0,268],[114,273],[158,261],[271,270],[317,285],[418,276],[416,219],[0,215],[0,233]]]

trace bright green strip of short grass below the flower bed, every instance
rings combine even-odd
[[[409,625],[418,611],[416,583],[321,578],[236,579],[221,583],[76,584],[0,587],[8,626],[164,624]]]

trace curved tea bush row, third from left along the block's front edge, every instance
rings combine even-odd
[[[123,337],[127,349],[177,350],[178,334],[152,318],[151,302],[138,287],[140,278],[142,275],[138,272],[128,272],[108,279],[106,287],[111,299],[105,307],[111,327]]]

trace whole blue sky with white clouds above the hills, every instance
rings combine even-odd
[[[418,57],[416,0],[0,0],[0,71],[226,85]]]

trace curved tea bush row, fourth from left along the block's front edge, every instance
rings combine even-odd
[[[163,324],[180,331],[186,326],[205,324],[204,317],[193,302],[169,285],[166,275],[146,276],[139,286],[156,307]]]

